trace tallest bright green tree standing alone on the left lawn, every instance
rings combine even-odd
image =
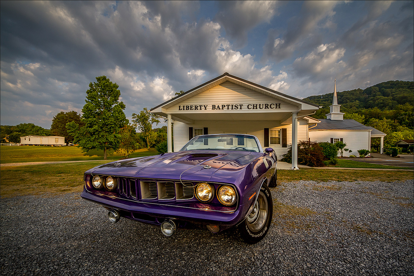
[[[119,146],[120,129],[129,122],[125,117],[125,104],[119,101],[118,85],[106,76],[96,77],[96,82],[89,83],[86,92],[86,104],[82,108],[84,126],[75,122],[67,123],[68,133],[74,137],[79,147],[89,151],[103,150],[106,160],[106,150]]]

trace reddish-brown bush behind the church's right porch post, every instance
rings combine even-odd
[[[292,146],[286,154],[282,155],[282,162],[292,163]],[[322,148],[317,142],[299,141],[298,143],[298,164],[310,167],[324,167]]]

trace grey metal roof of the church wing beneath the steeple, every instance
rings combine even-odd
[[[331,119],[319,119],[320,123],[316,126],[310,126],[309,131],[318,130],[371,130],[371,136],[386,136],[385,133],[375,129],[371,126],[365,126],[352,119],[344,120],[331,120]]]

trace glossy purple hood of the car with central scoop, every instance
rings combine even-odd
[[[179,179],[181,176],[182,180],[188,181],[218,181],[214,179],[216,174],[223,181],[223,175],[236,177],[237,172],[262,155],[251,152],[181,151],[110,162],[87,173],[157,179]]]

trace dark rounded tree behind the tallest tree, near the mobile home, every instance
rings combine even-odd
[[[63,136],[65,137],[66,145],[69,142],[73,141],[73,136],[67,133],[66,124],[70,122],[75,122],[78,125],[83,125],[82,118],[80,114],[76,111],[63,112],[60,111],[53,117],[51,125],[51,133],[54,136]]]

